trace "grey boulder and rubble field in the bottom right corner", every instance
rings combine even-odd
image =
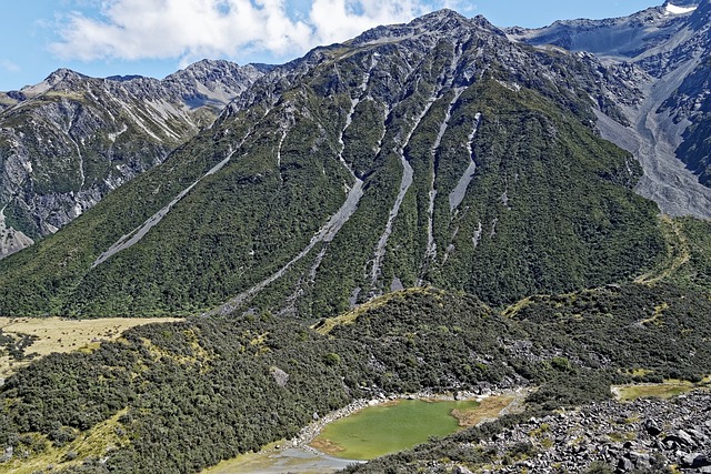
[[[617,473],[662,472],[670,465],[711,473],[711,392],[597,403],[530,418],[467,447],[495,450],[498,473],[585,472],[593,463]]]

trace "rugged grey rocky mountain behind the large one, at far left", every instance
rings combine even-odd
[[[162,162],[269,69],[204,60],[162,81],[60,69],[0,95],[0,258]]]

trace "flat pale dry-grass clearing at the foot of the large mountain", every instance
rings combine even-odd
[[[8,334],[30,334],[39,337],[27,347],[27,354],[43,356],[52,352],[91,351],[101,341],[113,341],[128,329],[149,324],[182,321],[176,317],[107,317],[98,320],[64,320],[61,317],[0,317],[0,327]],[[8,377],[30,361],[0,357],[0,377]]]

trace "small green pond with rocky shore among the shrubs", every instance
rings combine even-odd
[[[311,443],[332,456],[372,460],[444,436],[460,428],[452,410],[471,411],[474,401],[400,400],[369,406],[326,425]]]

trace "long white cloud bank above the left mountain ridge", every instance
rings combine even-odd
[[[290,17],[286,0],[107,0],[100,16],[61,18],[50,49],[84,61],[286,57],[409,21],[428,10],[424,1],[311,0],[308,12]]]

